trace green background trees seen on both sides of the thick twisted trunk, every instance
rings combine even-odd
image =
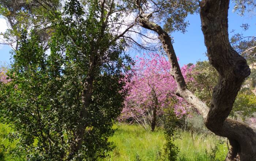
[[[210,65],[208,61],[197,62],[193,67],[188,77],[191,77],[193,81],[188,82],[188,88],[195,93],[195,95],[208,107],[210,107],[212,91],[214,86],[218,82],[218,73]],[[252,93],[251,89],[248,88],[248,81],[250,77],[243,83],[240,92],[236,97],[233,105],[233,109],[230,112],[230,116],[234,119],[245,121],[253,116],[253,112],[256,110],[255,101],[256,96]]]

